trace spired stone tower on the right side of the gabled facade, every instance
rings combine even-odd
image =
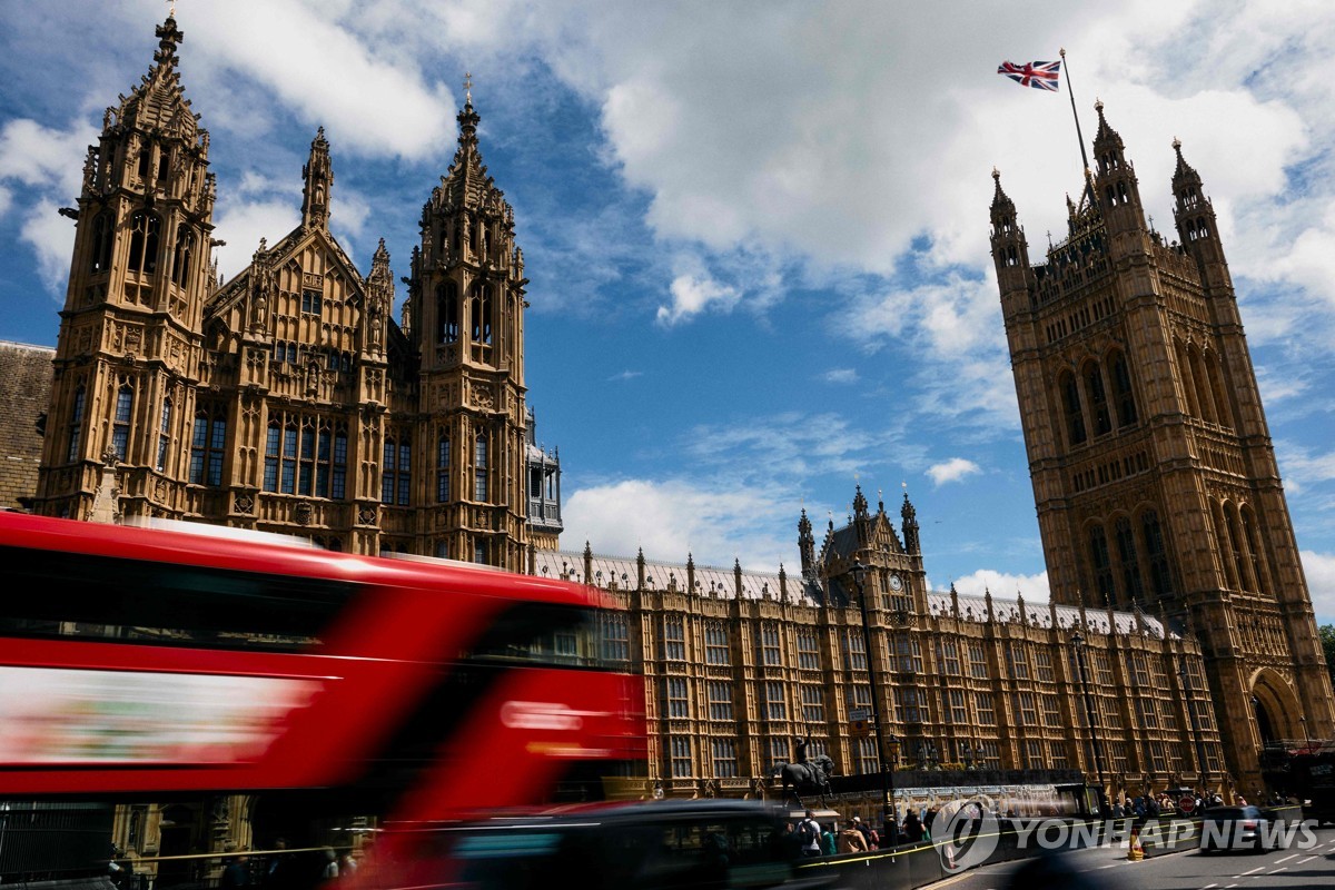
[[[458,120],[454,163],[422,208],[403,312],[419,367],[413,407],[422,419],[413,434],[422,443],[421,468],[435,480],[421,519],[441,532],[435,555],[518,570],[527,542],[529,282],[514,211],[482,164],[471,93]]]

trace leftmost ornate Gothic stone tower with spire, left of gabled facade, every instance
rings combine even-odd
[[[184,495],[174,443],[190,439],[211,280],[208,132],[176,72],[183,35],[158,28],[154,64],[108,108],[89,145],[35,506],[87,519],[103,467],[120,466],[119,507]],[[108,490],[109,486],[103,487]],[[105,496],[104,496],[105,500]]]

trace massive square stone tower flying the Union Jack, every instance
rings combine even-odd
[[[1152,606],[1199,635],[1228,766],[1252,791],[1259,746],[1331,737],[1335,699],[1214,208],[1175,143],[1181,243],[1149,230],[1096,108],[1097,169],[1045,263],[1029,264],[993,172],[992,256],[1052,598]]]

